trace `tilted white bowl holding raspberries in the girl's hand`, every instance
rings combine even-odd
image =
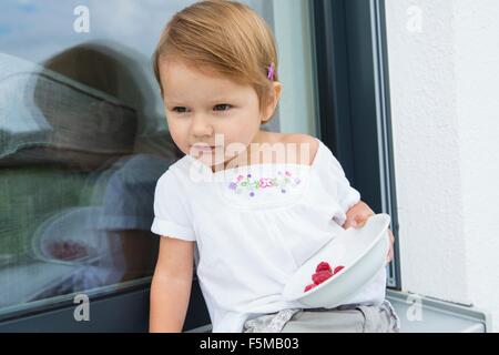
[[[305,307],[337,307],[369,282],[386,265],[389,250],[388,214],[369,217],[360,229],[339,232],[330,242],[309,257],[288,280],[283,291],[286,301],[295,301]],[[345,267],[314,288],[304,292],[312,284],[312,275],[320,262],[327,262],[334,270]]]

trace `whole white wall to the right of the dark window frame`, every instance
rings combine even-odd
[[[499,1],[386,11],[403,288],[499,332]]]

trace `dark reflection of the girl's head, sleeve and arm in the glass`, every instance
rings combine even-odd
[[[92,174],[102,175],[104,179],[105,187],[95,191],[93,199],[94,204],[101,204],[100,217],[98,221],[85,219],[82,223],[90,223],[91,225],[85,225],[89,230],[106,231],[108,237],[103,246],[106,250],[105,252],[101,250],[102,257],[96,262],[82,265],[74,273],[71,278],[73,292],[139,278],[152,273],[157,248],[157,240],[151,237],[150,231],[155,182],[177,154],[173,152],[169,159],[160,156],[161,154],[135,154],[136,150],[133,148],[136,146],[134,144],[138,132],[146,130],[149,116],[144,98],[149,92],[144,91],[150,89],[145,88],[143,82],[140,83],[131,71],[134,65],[131,51],[122,48],[114,51],[110,49],[111,44],[115,47],[114,43],[78,45],[44,63],[51,72],[78,82],[78,89],[88,88],[89,92],[84,92],[82,98],[94,99],[96,111],[88,109],[88,112],[78,112],[75,108],[81,109],[81,104],[71,101],[60,108],[53,106],[50,102],[54,99],[51,97],[54,92],[47,93],[42,84],[37,87],[34,95],[37,105],[52,119],[52,122],[54,118],[65,121],[68,131],[73,130],[74,136],[80,140],[82,151],[68,152],[72,159],[62,162],[79,170],[98,170]],[[58,94],[63,97],[69,90],[69,87],[61,85]],[[101,93],[102,98],[99,97]],[[134,115],[133,122],[131,112]],[[99,114],[100,121],[96,123],[102,124],[94,124],[93,114]],[[71,122],[71,119],[75,122]],[[53,126],[54,130],[60,128]],[[121,128],[124,131],[119,131]],[[59,156],[64,155],[65,151],[62,154],[60,151],[67,149],[63,135],[64,132],[54,132],[53,135],[57,139],[61,138],[53,142]],[[95,145],[102,148],[101,154],[96,154],[93,150]],[[106,146],[112,153],[105,152]],[[81,154],[82,159],[78,159],[80,155],[74,154]],[[85,241],[82,242],[84,246]],[[61,250],[55,250],[55,254],[68,252],[68,243],[61,241],[59,246]],[[74,250],[81,252],[81,245],[80,248],[74,244],[70,246],[72,248],[69,252]],[[88,247],[91,250],[91,245]]]

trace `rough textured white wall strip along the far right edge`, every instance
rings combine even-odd
[[[499,1],[459,0],[455,14],[469,296],[499,332]]]

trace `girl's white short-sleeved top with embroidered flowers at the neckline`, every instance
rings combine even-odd
[[[213,332],[304,306],[282,291],[310,255],[337,235],[360,200],[320,141],[312,165],[263,163],[213,171],[185,155],[160,178],[151,231],[195,241],[196,273]],[[380,304],[386,270],[349,302]]]

